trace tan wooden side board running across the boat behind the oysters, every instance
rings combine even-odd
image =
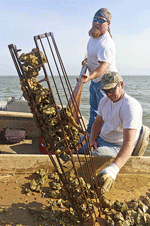
[[[55,156],[54,156],[55,158]],[[87,164],[85,157],[79,157],[82,168],[88,177]],[[76,155],[73,156],[76,168],[81,172],[81,165]],[[87,157],[90,166],[90,158]],[[113,158],[110,157],[93,157],[96,174],[103,168],[107,167]],[[70,162],[65,164],[65,169],[70,168]],[[48,155],[38,154],[1,154],[0,155],[0,174],[3,173],[34,173],[39,169],[53,170],[53,165]],[[131,157],[125,166],[120,170],[119,174],[150,174],[150,157]]]

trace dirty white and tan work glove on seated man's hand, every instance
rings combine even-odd
[[[101,189],[101,195],[105,195],[107,192],[109,192],[110,188],[114,185],[118,172],[119,167],[114,163],[111,163],[98,174],[97,180]]]

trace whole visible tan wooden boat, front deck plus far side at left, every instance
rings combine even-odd
[[[24,115],[23,113],[4,112],[1,114],[0,122],[1,129],[10,125],[19,125],[19,128],[26,128],[26,131],[28,131],[28,137],[20,143],[0,144],[0,211],[3,208],[8,209],[0,214],[0,225],[22,224],[23,226],[32,226],[35,225],[34,217],[29,213],[28,208],[35,207],[40,210],[42,207],[47,207],[50,198],[42,197],[40,193],[35,192],[27,196],[24,189],[39,169],[52,172],[54,167],[49,156],[39,150],[39,134],[30,113]],[[76,155],[73,158],[80,174],[79,160]],[[96,174],[113,161],[113,158],[110,157],[93,157],[93,159]],[[85,157],[81,155],[80,161],[88,180]],[[69,162],[65,165],[64,169],[67,171],[70,168]],[[48,186],[49,184],[46,184],[44,188]],[[150,157],[134,156],[130,157],[120,170],[114,186],[107,194],[107,198],[112,203],[116,200],[123,202],[133,198],[139,199],[145,195],[150,196],[149,188]],[[102,218],[99,223],[95,224],[95,226],[98,225],[106,225],[105,220]]]

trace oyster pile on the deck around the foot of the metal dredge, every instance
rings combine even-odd
[[[84,203],[84,197],[81,195],[80,188],[78,188],[76,192],[73,192],[74,189],[79,186],[79,181],[75,178],[73,171],[67,172],[65,176],[70,181],[70,184],[66,184],[67,190],[64,189],[57,172],[48,173],[48,171],[42,169],[36,172],[36,178],[29,180],[28,188],[25,188],[25,193],[28,196],[32,195],[33,192],[38,192],[41,193],[43,198],[49,198],[50,205],[46,208],[47,214],[45,217],[49,220],[50,225],[55,225],[55,223],[57,223],[57,225],[66,226],[80,224],[78,214],[70,201],[72,197],[77,199],[76,205],[79,206],[81,215],[83,213],[83,221],[88,217],[87,204]],[[49,188],[45,189],[43,185],[47,180],[49,180]],[[87,192],[87,186],[91,189],[91,185],[86,185],[82,177],[80,177],[79,180],[85,193]],[[94,192],[91,190],[91,196],[93,196],[93,194]],[[88,197],[88,206],[91,210],[93,208],[96,209],[96,204],[91,197]],[[39,211],[35,208],[29,208],[29,211],[34,215],[34,219],[38,219],[38,221],[44,214],[43,210]],[[61,219],[61,222],[57,222],[58,219]]]

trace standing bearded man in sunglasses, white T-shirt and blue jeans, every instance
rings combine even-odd
[[[96,118],[98,104],[103,94],[98,88],[102,76],[108,71],[116,71],[115,44],[110,33],[111,12],[107,8],[99,9],[93,17],[92,28],[89,30],[90,39],[87,45],[87,66],[89,75],[83,74],[83,83],[90,84],[90,118],[87,132],[91,132]]]

